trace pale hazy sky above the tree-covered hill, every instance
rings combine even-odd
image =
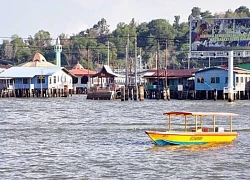
[[[193,7],[219,13],[240,6],[250,8],[250,0],[1,0],[0,38],[33,37],[45,30],[56,39],[91,28],[102,18],[111,30],[132,18],[138,23],[161,18],[172,24],[175,15],[186,22]]]

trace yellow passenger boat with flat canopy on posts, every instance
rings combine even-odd
[[[146,131],[146,134],[159,146],[231,142],[238,135],[237,132],[233,132],[232,124],[232,118],[238,116],[238,114],[217,112],[167,112],[163,115],[168,116],[168,131]],[[217,118],[221,116],[229,119],[227,124],[228,129],[216,127]],[[171,130],[173,117],[183,117],[183,131]],[[189,119],[191,119],[191,117],[194,120],[190,122]],[[212,127],[203,125],[203,121],[208,122],[207,117],[210,119],[210,126]],[[190,128],[192,122],[194,123],[192,125],[194,126],[193,129]]]

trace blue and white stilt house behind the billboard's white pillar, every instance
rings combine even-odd
[[[249,99],[250,71],[233,68],[234,99]],[[218,66],[195,73],[195,91],[197,99],[227,99],[228,67]]]

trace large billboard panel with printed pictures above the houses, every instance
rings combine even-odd
[[[250,50],[250,18],[196,19],[190,32],[191,51]]]

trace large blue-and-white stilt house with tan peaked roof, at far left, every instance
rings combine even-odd
[[[0,74],[1,97],[68,96],[73,90],[73,77],[66,68],[57,67],[36,53],[32,61]]]

